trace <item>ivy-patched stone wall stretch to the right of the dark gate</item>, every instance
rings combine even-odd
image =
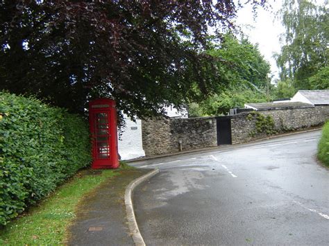
[[[287,132],[321,125],[329,118],[329,106],[315,106],[295,109],[276,109],[258,111],[264,116],[271,116],[277,132]],[[246,143],[254,139],[266,137],[266,134],[255,132],[255,121],[246,118],[249,112],[236,114],[231,118],[232,143]]]

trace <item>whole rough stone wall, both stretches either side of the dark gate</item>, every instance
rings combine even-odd
[[[287,132],[321,125],[329,119],[329,106],[273,109],[258,111],[271,116],[274,129]],[[232,143],[246,143],[267,137],[255,132],[255,120],[248,120],[250,112],[231,116]],[[253,133],[253,134],[251,134]],[[217,146],[215,117],[155,118],[142,121],[142,142],[146,156]]]

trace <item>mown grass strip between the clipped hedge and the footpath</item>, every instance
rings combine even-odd
[[[119,170],[129,169],[122,164]],[[76,204],[117,170],[82,170],[69,182],[0,231],[0,245],[58,245],[65,242],[65,230],[74,218]]]

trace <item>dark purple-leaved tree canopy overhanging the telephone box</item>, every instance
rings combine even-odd
[[[264,6],[265,0],[250,1]],[[237,3],[237,4],[236,4]],[[148,116],[213,88],[208,28],[233,26],[235,1],[0,2],[0,89],[82,112],[90,98]],[[207,71],[207,73],[206,73]],[[209,71],[212,71],[210,75]],[[193,85],[193,87],[191,87]]]

